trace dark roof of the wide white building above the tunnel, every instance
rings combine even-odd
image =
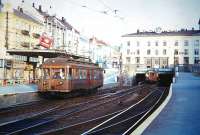
[[[200,36],[200,30],[180,30],[180,31],[162,31],[157,33],[155,31],[137,32],[122,35],[122,37],[148,37],[148,36]]]

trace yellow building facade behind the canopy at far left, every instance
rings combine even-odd
[[[30,80],[33,78],[32,69],[34,63],[38,62],[37,59],[9,55],[7,50],[38,48],[42,29],[43,24],[24,13],[22,8],[13,9],[9,4],[5,4],[5,8],[0,12],[1,80]]]

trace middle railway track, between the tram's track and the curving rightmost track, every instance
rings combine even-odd
[[[134,92],[132,89],[128,89],[128,90],[129,90],[129,94]],[[72,114],[73,115],[79,114],[80,112],[90,110],[92,108],[98,107],[108,102],[111,102],[114,100],[116,101],[117,98],[125,96],[126,92],[127,92],[127,89],[122,90],[121,92],[115,93],[113,95],[116,95],[116,97],[112,97],[112,99],[111,99],[111,95],[107,95],[105,97],[102,97],[101,99],[95,99],[86,103],[81,103],[71,108],[69,107],[57,108],[57,109],[54,109],[53,111],[49,110],[47,112],[37,114],[33,117],[28,117],[28,118],[21,119],[18,121],[6,123],[0,126],[0,131],[3,134],[26,134],[28,133],[28,131],[31,131],[30,133],[33,133],[32,130],[38,129],[38,127],[43,127],[43,126],[48,127],[50,123],[55,123],[58,120],[72,116]],[[106,99],[106,98],[107,99],[110,98],[110,100],[104,101],[103,99]],[[98,104],[97,104],[97,101],[98,101]],[[95,104],[92,105],[92,102],[95,102]]]

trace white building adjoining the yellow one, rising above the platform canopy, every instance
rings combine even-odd
[[[70,54],[78,54],[78,45],[80,33],[71,24],[69,24],[64,17],[59,19],[56,15],[50,15],[48,12],[43,11],[42,6],[34,8],[43,20],[43,33],[53,40],[50,49],[66,51]]]

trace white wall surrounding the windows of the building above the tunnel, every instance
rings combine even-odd
[[[188,40],[189,45],[184,46],[184,41]],[[198,47],[194,45],[195,40],[200,40],[200,36],[149,36],[149,37],[123,37],[122,38],[122,56],[123,63],[126,63],[126,57],[131,57],[130,64],[136,64],[135,58],[140,57],[140,64],[144,64],[144,57],[169,57],[169,64],[174,64],[174,49],[178,49],[179,52],[184,52],[184,49],[189,50],[188,55],[179,54],[176,57],[179,57],[179,64],[183,64],[183,57],[189,57],[189,64],[194,64],[194,48],[200,49],[200,44]],[[130,46],[127,46],[127,42],[130,41]],[[140,45],[137,46],[137,41],[140,42]],[[147,42],[150,42],[151,45],[148,46]],[[158,46],[155,45],[155,42],[158,41]],[[166,46],[163,46],[163,41],[167,42]],[[178,41],[178,46],[175,46],[175,41]],[[127,49],[130,49],[130,54],[127,54]],[[137,55],[137,49],[140,50],[140,54]],[[151,55],[147,55],[147,49],[151,50]],[[159,54],[155,55],[155,50],[158,49]],[[163,49],[167,50],[167,54],[163,55]],[[200,57],[200,55],[198,55]]]

